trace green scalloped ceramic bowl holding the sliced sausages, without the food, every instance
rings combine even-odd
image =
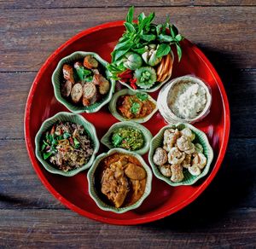
[[[96,113],[99,111],[104,105],[106,105],[113,96],[114,84],[115,82],[112,79],[109,79],[110,82],[110,90],[108,94],[102,98],[101,101],[97,101],[95,104],[90,105],[89,107],[83,107],[82,105],[76,105],[72,101],[68,101],[66,98],[61,96],[61,82],[63,79],[62,66],[65,63],[72,63],[74,61],[79,61],[84,59],[85,55],[93,55],[97,61],[99,61],[103,67],[106,68],[108,65],[107,61],[104,61],[99,55],[93,52],[74,52],[71,55],[68,55],[61,59],[58,63],[58,66],[55,68],[55,72],[51,77],[52,84],[54,86],[55,98],[57,101],[60,101],[67,109],[73,113]],[[106,75],[108,76],[108,70],[106,69]]]

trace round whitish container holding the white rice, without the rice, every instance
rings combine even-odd
[[[174,88],[178,84],[198,84],[200,87],[202,87],[203,90],[206,92],[206,99],[207,102],[205,104],[205,107],[201,110],[201,113],[198,113],[195,118],[183,118],[180,116],[177,116],[172,110],[172,107],[170,107],[170,98],[173,98],[173,95],[176,94]],[[161,90],[157,99],[157,107],[160,110],[161,115],[166,120],[168,124],[175,124],[177,122],[181,123],[190,123],[193,124],[195,122],[200,121],[201,119],[204,119],[207,114],[210,112],[210,107],[212,104],[212,95],[210,87],[207,83],[205,83],[201,78],[197,78],[192,75],[186,75],[179,78],[173,78],[169,83],[167,83]]]

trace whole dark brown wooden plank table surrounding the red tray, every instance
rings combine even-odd
[[[190,206],[138,226],[67,210],[39,181],[26,153],[28,91],[47,57],[76,33],[136,14],[166,14],[208,56],[230,100],[230,145],[218,176]],[[256,1],[0,1],[0,247],[256,246]]]

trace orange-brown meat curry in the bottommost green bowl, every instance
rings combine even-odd
[[[131,206],[145,191],[147,172],[138,159],[123,153],[113,153],[96,170],[96,190],[101,199],[117,208]]]

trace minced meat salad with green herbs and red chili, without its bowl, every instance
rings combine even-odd
[[[93,148],[83,125],[58,121],[43,136],[41,151],[55,168],[71,171],[89,161]]]

